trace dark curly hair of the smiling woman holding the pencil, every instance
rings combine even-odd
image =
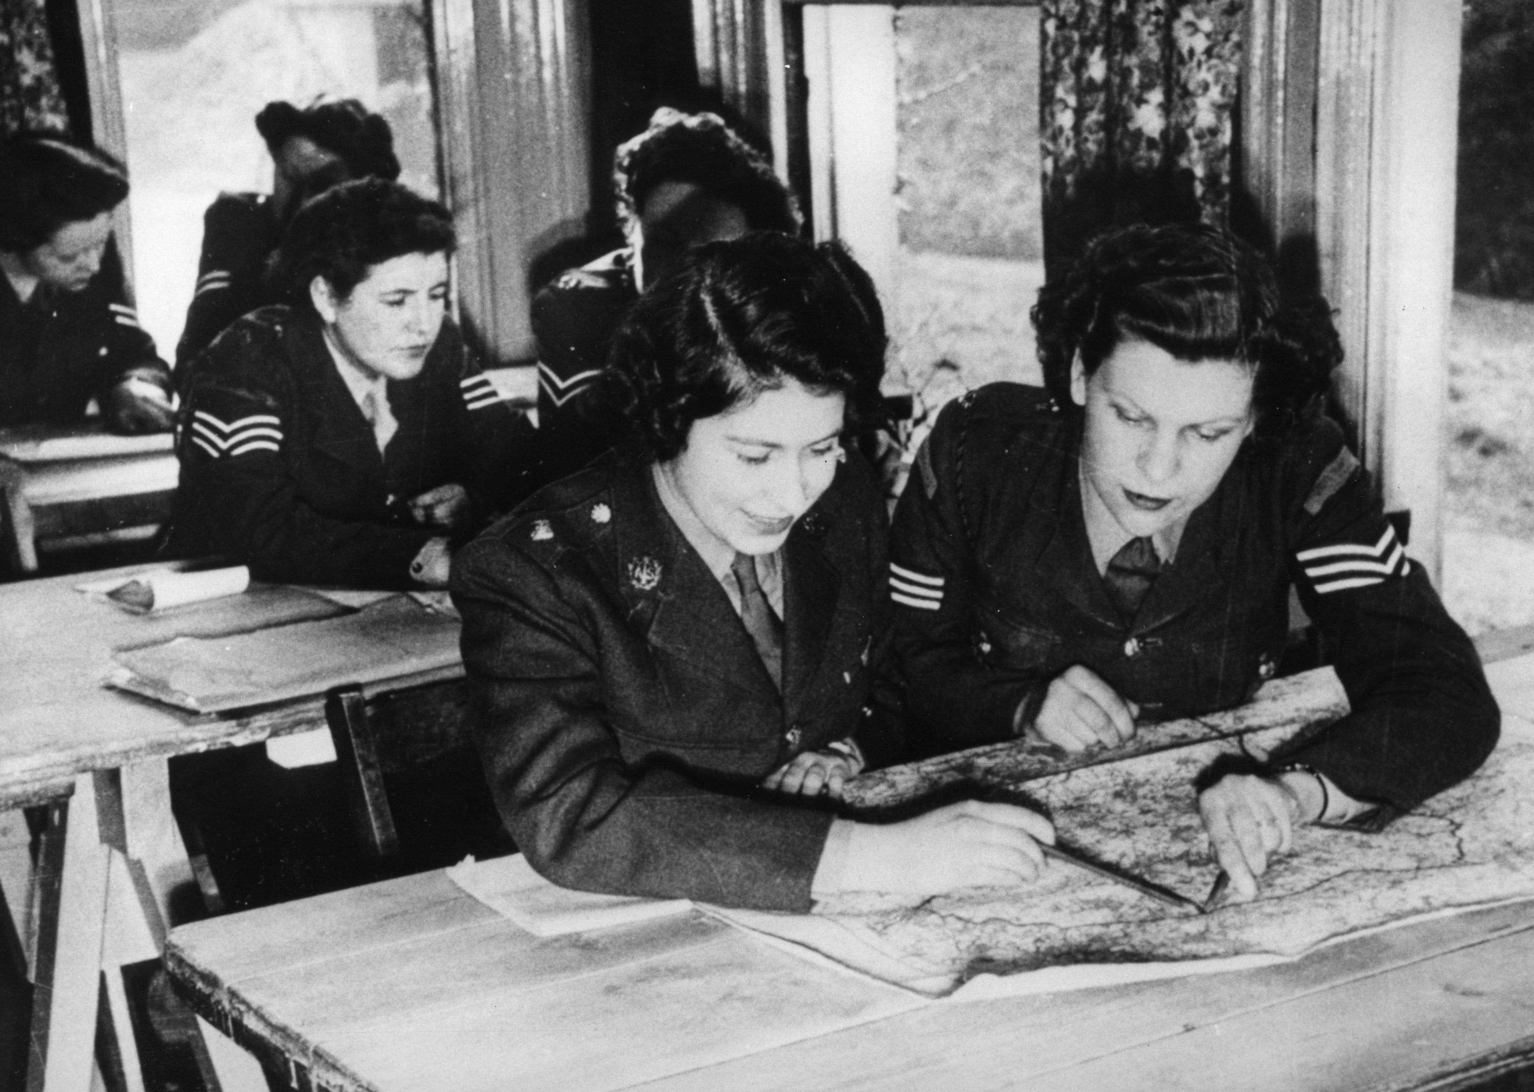
[[[604,380],[632,442],[664,462],[695,420],[790,379],[847,396],[850,431],[876,422],[884,350],[873,281],[841,245],[752,232],[698,247],[640,298]]]

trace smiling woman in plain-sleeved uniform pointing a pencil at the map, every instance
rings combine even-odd
[[[491,791],[555,883],[805,911],[1037,874],[1052,834],[1023,808],[815,805],[891,752],[884,502],[842,442],[884,347],[845,252],[707,244],[618,333],[629,446],[454,560]]]

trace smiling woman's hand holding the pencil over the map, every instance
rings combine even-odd
[[[904,822],[858,824],[841,886],[943,894],[1031,883],[1045,868],[1039,842],[1054,844],[1054,825],[1014,804],[963,801]]]

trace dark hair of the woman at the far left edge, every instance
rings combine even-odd
[[[126,196],[127,169],[98,147],[55,132],[0,143],[0,250],[35,250],[64,224],[95,219]]]

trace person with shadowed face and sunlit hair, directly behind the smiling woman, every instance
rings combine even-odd
[[[617,419],[595,380],[641,291],[695,245],[758,230],[798,235],[802,224],[767,158],[715,113],[657,110],[649,129],[618,146],[612,179],[627,244],[561,273],[532,299],[543,482],[614,445]]]

